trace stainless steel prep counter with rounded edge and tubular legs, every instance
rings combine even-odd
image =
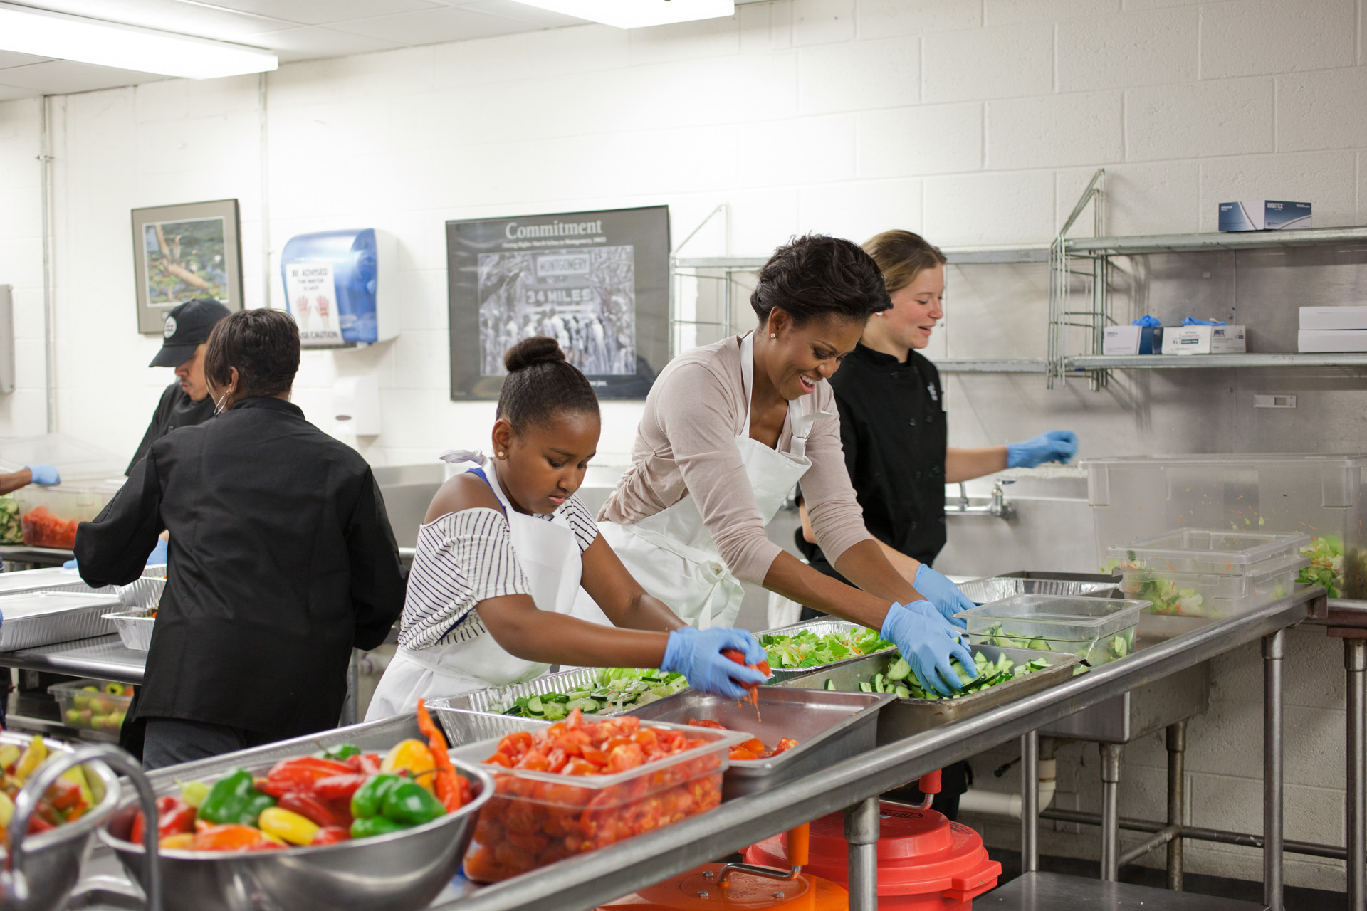
[[[1230,651],[1241,645],[1263,641],[1264,706],[1264,815],[1267,850],[1264,851],[1264,888],[1267,907],[1281,904],[1281,804],[1282,804],[1282,738],[1281,738],[1281,654],[1282,631],[1311,616],[1323,616],[1325,593],[1308,587],[1274,604],[1228,620],[1213,621],[1184,635],[1146,642],[1129,657],[1106,664],[1013,703],[999,706],[960,724],[935,728],[913,738],[871,750],[824,769],[820,776],[800,779],[772,791],[729,800],[707,814],[678,822],[667,829],[647,833],[629,841],[586,854],[573,862],[484,886],[458,900],[437,903],[435,908],[451,911],[509,911],[526,908],[593,908],[625,893],[659,882],[662,878],[705,863],[761,839],[783,832],[837,810],[846,810],[846,833],[850,840],[850,908],[876,908],[878,795],[912,781],[951,762],[966,759],[986,748],[1023,738],[1027,761],[1035,731],[1074,712],[1096,705],[1135,687],[1158,680],[1184,668]],[[377,723],[385,724],[385,723]],[[362,733],[351,729],[327,732],[323,742],[340,742]],[[1023,768],[1033,784],[1033,768]],[[1033,795],[1033,787],[1024,789]],[[1028,798],[1033,802],[1033,798]],[[1023,818],[1023,870],[1036,871],[1038,813],[1027,807]],[[1069,895],[1103,891],[1114,884],[1065,877]],[[1162,889],[1146,891],[1152,907],[1163,906]],[[994,893],[995,895],[995,893]],[[1007,897],[1005,893],[1002,897]],[[1189,896],[1187,896],[1189,899]],[[1002,903],[994,907],[1013,907]],[[1100,906],[1098,906],[1100,907]],[[1188,907],[1191,907],[1188,904]],[[1226,907],[1239,907],[1232,904]],[[1254,906],[1243,906],[1254,907]]]

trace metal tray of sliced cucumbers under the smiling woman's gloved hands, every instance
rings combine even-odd
[[[1036,651],[1033,649],[999,649],[990,645],[969,646],[973,653],[983,653],[990,661],[1005,654],[1017,662],[1031,658],[1046,658],[1051,664],[1043,671],[1027,673],[1007,683],[988,687],[957,699],[893,699],[878,713],[878,746],[884,746],[902,738],[909,738],[942,724],[962,721],[975,714],[1006,705],[1013,699],[1039,692],[1073,676],[1077,656],[1066,651]],[[835,684],[835,691],[858,690],[860,683],[869,683],[876,673],[887,673],[897,656],[893,653],[872,654],[867,658],[848,661],[839,667],[808,673],[781,683],[779,687],[800,690],[824,690],[826,680]]]

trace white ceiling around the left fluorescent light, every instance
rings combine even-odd
[[[282,63],[580,25],[515,0],[19,0],[273,51]],[[167,76],[0,51],[0,101]]]

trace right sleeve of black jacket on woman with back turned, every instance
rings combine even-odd
[[[368,478],[346,529],[357,649],[384,642],[403,611],[403,570],[375,477]]]

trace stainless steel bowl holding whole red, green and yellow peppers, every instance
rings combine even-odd
[[[284,851],[161,851],[163,904],[167,911],[425,908],[461,870],[480,807],[493,796],[493,779],[487,772],[472,763],[452,762],[470,780],[474,799],[455,813],[403,832]],[[265,774],[271,766],[246,768],[254,774]],[[156,788],[157,796],[175,789],[174,783]],[[126,840],[134,813],[131,804],[120,809],[100,829],[100,839],[145,888],[142,847]]]

